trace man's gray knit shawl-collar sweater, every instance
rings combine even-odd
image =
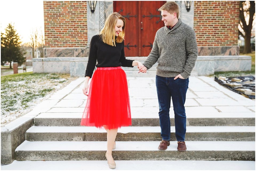
[[[169,30],[162,27],[155,34],[153,48],[144,61],[147,70],[158,62],[156,75],[188,78],[197,60],[198,49],[194,30],[181,19]]]

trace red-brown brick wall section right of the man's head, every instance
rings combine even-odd
[[[236,46],[239,1],[194,1],[198,46]]]

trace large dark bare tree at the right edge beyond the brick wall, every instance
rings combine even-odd
[[[249,20],[246,22],[246,18]],[[243,30],[238,29],[239,35],[245,39],[245,47],[243,53],[251,53],[251,29],[255,18],[255,1],[240,1],[239,6],[239,26]],[[248,23],[248,24],[247,24]]]

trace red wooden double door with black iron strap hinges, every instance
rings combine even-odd
[[[155,33],[164,26],[158,9],[166,1],[114,1],[114,12],[126,18],[125,56],[148,56]]]

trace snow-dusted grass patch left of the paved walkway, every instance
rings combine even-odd
[[[51,92],[75,79],[69,74],[32,72],[1,76],[1,124],[27,113]]]

